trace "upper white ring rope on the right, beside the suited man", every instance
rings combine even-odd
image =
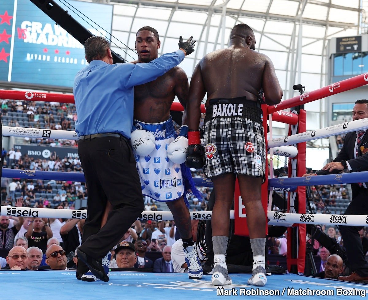
[[[278,147],[296,144],[300,142],[317,140],[319,138],[330,137],[331,135],[337,135],[360,129],[366,129],[367,127],[368,127],[368,118],[354,120],[342,124],[333,125],[330,127],[290,135],[287,137],[274,138],[273,140],[268,141],[268,147]]]

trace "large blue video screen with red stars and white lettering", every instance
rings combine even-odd
[[[112,5],[54,1],[91,33],[110,39]],[[72,87],[85,65],[82,44],[30,0],[0,1],[0,81]]]

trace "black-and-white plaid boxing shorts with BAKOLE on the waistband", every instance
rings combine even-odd
[[[232,172],[264,176],[266,144],[261,114],[260,105],[245,97],[210,100],[203,128],[207,177]]]

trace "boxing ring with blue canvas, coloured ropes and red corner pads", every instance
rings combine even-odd
[[[326,127],[323,129],[306,131],[306,112],[301,105],[341,93],[356,87],[368,84],[368,73],[343,80],[339,83],[332,84],[311,91],[300,96],[293,97],[280,102],[275,106],[262,105],[263,110],[263,126],[265,129],[265,137],[267,137],[267,119],[270,122],[270,138],[266,138],[266,148],[269,148],[271,164],[273,155],[282,155],[289,158],[289,178],[266,178],[262,185],[262,204],[268,217],[268,225],[289,226],[288,230],[288,251],[287,265],[288,270],[292,273],[300,275],[304,272],[305,263],[305,224],[335,224],[335,225],[367,225],[368,215],[328,215],[328,214],[307,214],[305,202],[305,186],[320,184],[342,184],[368,181],[368,171],[359,173],[334,174],[324,176],[301,177],[305,173],[305,148],[306,141],[315,140],[330,135],[346,133],[368,127],[368,119],[346,122],[343,124]],[[56,93],[37,93],[28,91],[9,91],[1,90],[0,98],[14,99],[23,101],[45,101],[74,103],[73,95],[56,94]],[[283,109],[290,109],[286,112]],[[183,106],[179,103],[173,103],[172,110],[183,110]],[[202,105],[202,112],[205,108]],[[266,118],[265,116],[268,116]],[[282,138],[272,138],[272,120],[289,124],[289,135]],[[31,137],[31,138],[53,138],[77,140],[75,131],[51,130],[51,129],[30,129],[24,127],[3,126],[3,135],[14,137]],[[266,164],[266,174],[268,165]],[[58,171],[38,171],[38,170],[18,170],[3,169],[3,177],[24,178],[24,179],[42,179],[42,180],[68,180],[84,182],[83,173],[70,173]],[[212,187],[212,181],[207,178],[193,178],[198,187]],[[269,210],[274,191],[288,192],[288,208],[287,213],[274,212]],[[246,234],[246,212],[245,207],[241,203],[240,192],[236,191],[234,195],[235,209],[230,212],[230,218],[235,219],[235,233]],[[34,207],[13,207],[1,206],[0,215],[6,216],[24,216],[24,217],[53,217],[53,218],[85,218],[86,210],[59,210]],[[210,220],[212,212],[190,212],[192,220]],[[138,220],[173,220],[171,212],[142,212]],[[265,226],[267,225],[265,224]],[[9,271],[0,270],[0,275],[4,275],[10,289],[6,289],[4,294],[6,298],[11,299],[14,290],[18,293],[29,291],[35,288],[34,282],[47,282],[48,286],[45,292],[38,291],[39,299],[50,297],[49,292],[57,291],[60,298],[63,297],[106,297],[121,295],[121,287],[124,292],[134,295],[137,299],[146,299],[150,292],[157,292],[157,289],[181,290],[180,297],[183,299],[192,298],[192,290],[196,291],[195,296],[213,297],[226,296],[236,293],[236,295],[244,296],[288,296],[291,299],[299,296],[335,296],[350,297],[365,296],[368,286],[336,281],[333,279],[321,279],[302,277],[296,274],[272,275],[268,277],[268,283],[265,287],[255,288],[245,285],[249,275],[247,274],[231,274],[233,285],[226,286],[224,289],[217,290],[212,286],[210,275],[204,275],[202,280],[188,279],[187,274],[175,273],[138,273],[138,272],[117,272],[113,271],[110,281],[104,282],[82,282],[75,279],[75,273],[72,271],[37,271],[32,274],[27,271]],[[4,282],[4,280],[3,280]],[[22,282],[22,285],[19,283]],[[62,284],[60,284],[62,282]],[[88,289],[84,289],[88,286]],[[13,289],[13,288],[14,289]],[[142,289],[144,296],[137,297],[137,289]],[[290,290],[288,290],[290,289]],[[297,291],[298,290],[298,291]],[[324,292],[323,292],[324,291]],[[344,292],[345,291],[345,292]],[[353,291],[353,292],[346,292]],[[361,292],[358,292],[361,291]],[[148,292],[148,293],[147,293]],[[54,295],[58,299],[58,294]],[[169,296],[169,294],[167,294]],[[172,295],[174,296],[174,294]]]

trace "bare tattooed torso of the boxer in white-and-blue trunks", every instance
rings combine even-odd
[[[134,87],[134,119],[145,123],[160,123],[170,118],[171,104],[177,95],[186,107],[188,78],[184,70],[175,67],[152,82]]]

